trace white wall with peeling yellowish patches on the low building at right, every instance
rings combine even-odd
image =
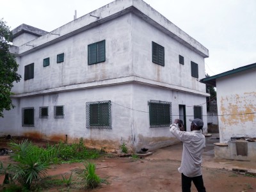
[[[256,70],[216,79],[220,142],[231,137],[256,137]]]

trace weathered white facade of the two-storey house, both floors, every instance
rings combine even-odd
[[[125,142],[137,151],[177,142],[169,127],[150,128],[149,100],[172,102],[172,120],[179,118],[179,105],[185,105],[187,131],[193,106],[202,106],[207,130],[209,94],[198,79],[205,77],[204,58],[209,52],[143,1],[114,1],[22,44],[31,34],[24,36],[13,40],[17,47],[11,50],[22,77],[24,66],[34,63],[34,78],[15,83],[16,108],[0,119],[2,135],[67,137],[70,143],[82,137],[86,145],[113,150]],[[88,65],[88,45],[101,40],[106,41],[106,61]],[[164,47],[164,67],[152,62],[152,42]],[[56,63],[61,53],[64,61]],[[48,57],[50,65],[43,67]],[[198,79],[191,76],[191,61],[198,64]],[[103,100],[111,101],[111,129],[86,128],[86,102]],[[41,106],[48,106],[48,118],[38,118]],[[54,118],[54,106],[64,106],[64,118]],[[22,108],[30,107],[35,110],[35,125],[22,127]]]

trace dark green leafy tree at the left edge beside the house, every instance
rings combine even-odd
[[[12,42],[12,33],[3,19],[0,19],[0,116],[3,117],[3,110],[13,109],[12,87],[13,82],[20,81],[21,76],[17,74],[19,65],[15,56],[10,53],[9,47]]]

